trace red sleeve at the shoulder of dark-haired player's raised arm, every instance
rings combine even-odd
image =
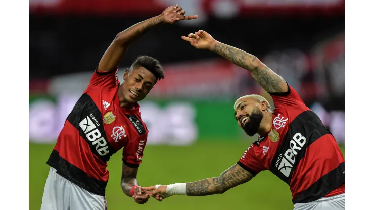
[[[118,67],[108,72],[101,72],[99,71],[98,67],[96,67],[94,74],[89,80],[88,87],[115,88],[119,84],[117,74],[118,74]]]

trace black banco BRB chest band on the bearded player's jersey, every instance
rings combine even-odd
[[[313,111],[302,112],[290,123],[289,129],[283,138],[282,144],[279,146],[276,154],[271,161],[270,171],[277,177],[282,179],[282,181],[290,185],[293,172],[300,160],[304,158],[306,148],[308,148],[309,145],[326,134],[331,133],[323,125],[322,121]],[[294,137],[296,139],[305,137],[306,142],[301,146],[296,143]],[[298,148],[301,148],[300,150],[298,150],[294,147],[294,151],[297,152],[296,155],[293,154],[291,150],[291,140],[293,140],[293,147],[297,146]],[[294,163],[287,159],[285,154],[293,156]]]

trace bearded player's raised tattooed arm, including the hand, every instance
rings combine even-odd
[[[236,47],[221,43],[203,30],[195,34],[190,33],[188,37],[182,39],[189,41],[192,46],[198,49],[209,49],[223,58],[231,61],[251,72],[252,77],[269,93],[287,92],[286,81],[269,67],[263,64],[256,56],[246,53]]]

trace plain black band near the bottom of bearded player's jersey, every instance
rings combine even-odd
[[[300,192],[292,200],[293,203],[307,203],[329,194],[331,191],[337,189],[339,186],[344,184],[344,162],[329,173],[319,178],[313,183],[308,189]]]

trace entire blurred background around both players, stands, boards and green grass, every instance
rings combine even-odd
[[[271,98],[251,75],[180,36],[206,30],[256,55],[282,75],[335,135],[344,153],[344,1],[30,0],[29,207],[40,209],[45,164],[63,123],[115,35],[181,5],[194,21],[163,25],[134,42],[119,75],[138,55],[161,61],[166,78],[141,101],[149,127],[142,186],[218,176],[254,139],[232,118],[241,95]],[[109,161],[109,209],[292,209],[288,186],[270,172],[223,195],[174,196],[144,205],[120,187],[121,151]]]

